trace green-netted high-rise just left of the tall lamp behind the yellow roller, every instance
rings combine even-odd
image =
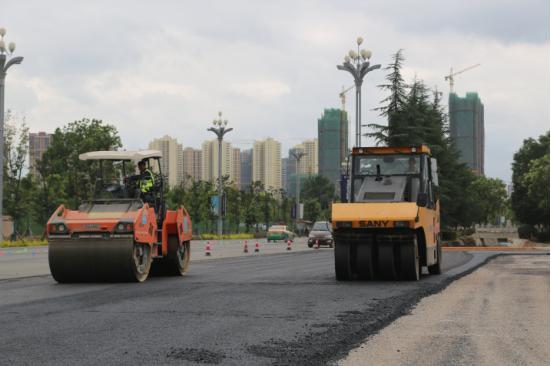
[[[318,119],[318,160],[320,175],[338,187],[341,165],[348,154],[348,116],[340,109],[325,109]]]

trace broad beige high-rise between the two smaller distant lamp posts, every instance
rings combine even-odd
[[[281,189],[281,143],[267,138],[253,145],[253,181],[266,189]]]

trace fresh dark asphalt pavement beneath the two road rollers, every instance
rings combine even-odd
[[[339,283],[331,249],[194,261],[142,284],[0,280],[0,364],[333,363],[493,255],[444,253],[446,272],[419,282]]]

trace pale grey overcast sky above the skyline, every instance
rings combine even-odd
[[[7,77],[6,108],[33,131],[102,119],[127,149],[165,134],[198,148],[221,110],[234,145],[270,136],[287,155],[317,137],[324,108],[340,107],[353,82],[335,65],[357,36],[372,63],[404,49],[406,80],[445,101],[450,67],[482,64],[455,89],[484,103],[488,176],[509,181],[522,140],[549,129],[549,0],[0,0],[0,26],[25,57]],[[370,110],[384,76],[364,82],[364,123],[383,122]]]

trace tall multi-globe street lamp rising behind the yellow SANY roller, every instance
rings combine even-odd
[[[356,40],[358,51],[350,50],[348,55],[344,57],[342,65],[337,65],[337,69],[348,71],[354,77],[356,85],[356,141],[355,146],[361,146],[361,118],[362,118],[362,83],[363,78],[368,72],[381,67],[381,65],[369,66],[371,51],[366,49],[360,50],[360,45],[363,43],[363,38],[358,37]]]

